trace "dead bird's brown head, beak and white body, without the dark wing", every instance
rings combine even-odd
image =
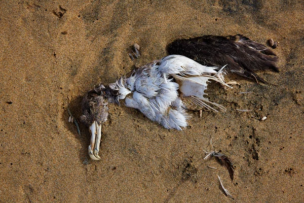
[[[247,55],[247,59],[250,57]],[[81,117],[91,131],[90,157],[100,159],[101,125],[107,119],[107,102],[120,105],[120,100],[125,99],[127,107],[139,110],[150,120],[168,129],[181,130],[187,126],[188,109],[225,111],[223,106],[204,97],[204,91],[211,81],[230,87],[224,81],[229,65],[205,66],[182,55],[169,55],[133,70],[129,77],[121,77],[115,83],[94,87],[83,99]]]

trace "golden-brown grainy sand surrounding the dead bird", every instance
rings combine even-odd
[[[304,201],[301,1],[2,1],[0,11],[0,202]],[[268,84],[211,84],[227,111],[191,112],[183,131],[109,105],[101,160],[89,159],[88,129],[80,136],[67,108],[79,118],[87,90],[129,73],[131,45],[145,64],[175,39],[238,33],[280,42],[280,73],[259,73]],[[204,150],[230,158],[233,182]]]

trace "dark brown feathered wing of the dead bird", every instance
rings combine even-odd
[[[169,54],[179,54],[208,66],[223,66],[226,70],[253,80],[265,82],[256,71],[279,72],[278,57],[269,48],[243,35],[203,36],[179,39],[167,46]]]

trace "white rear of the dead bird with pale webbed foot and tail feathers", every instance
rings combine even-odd
[[[179,85],[179,91],[182,96],[188,97],[182,99],[185,101],[187,108],[195,105],[195,109],[205,108],[215,112],[217,112],[217,110],[206,103],[212,104],[222,111],[225,111],[225,108],[210,102],[208,98],[204,97],[204,95],[207,95],[204,91],[207,89],[207,82],[211,81],[216,81],[224,86],[230,87],[223,80],[223,67],[219,69],[220,67],[205,66],[181,55],[169,55],[162,58],[158,67],[161,75],[164,75],[164,77],[172,76]]]

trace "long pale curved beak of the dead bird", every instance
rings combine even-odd
[[[89,130],[91,132],[91,143],[89,145],[89,156],[93,160],[99,160],[98,155],[99,146],[101,141],[101,124],[98,124],[96,121],[90,125]]]

